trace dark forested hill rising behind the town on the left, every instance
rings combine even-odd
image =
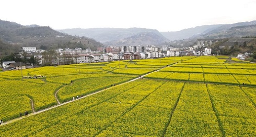
[[[80,47],[97,50],[98,47],[103,46],[94,39],[67,35],[51,29],[50,26],[24,26],[3,20],[0,20],[0,41],[0,55],[2,56],[20,51],[21,47],[36,47],[46,50]]]

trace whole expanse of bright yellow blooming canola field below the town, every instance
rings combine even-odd
[[[226,60],[170,57],[22,72],[43,79],[2,72],[0,118],[31,115],[0,126],[0,136],[256,136],[256,65]]]

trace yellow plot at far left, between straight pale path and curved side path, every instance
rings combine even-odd
[[[40,80],[40,79],[35,79]],[[4,79],[0,81],[0,102],[1,109],[8,110],[0,112],[4,116],[4,120],[19,117],[19,113],[27,111],[31,112],[30,100],[33,100],[36,111],[57,104],[54,98],[54,91],[62,84],[55,83],[35,83],[33,81]],[[20,98],[19,98],[20,97]],[[17,98],[17,100],[13,100]],[[23,100],[23,101],[22,101]],[[9,102],[13,101],[13,103]],[[5,103],[9,102],[9,105]],[[21,105],[17,108],[17,105]],[[30,107],[28,107],[30,106]],[[22,110],[22,108],[24,108]],[[25,109],[26,108],[26,109]]]

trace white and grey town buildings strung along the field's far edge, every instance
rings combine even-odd
[[[200,41],[199,44],[207,42]],[[213,43],[213,42],[210,42]],[[37,49],[36,47],[22,47],[23,52],[27,52],[37,59],[38,65],[64,65],[78,63],[96,63],[109,62],[115,60],[138,60],[152,59],[163,57],[177,56],[210,56],[212,49],[205,48],[204,51],[195,51],[193,47],[183,49],[172,47],[157,47],[148,46],[121,46],[121,47],[106,47],[98,48],[97,51],[91,51],[82,48],[65,48],[57,49],[54,54],[47,54],[45,50]],[[21,56],[22,57],[22,56]]]

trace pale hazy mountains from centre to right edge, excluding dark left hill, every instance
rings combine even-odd
[[[152,29],[94,28],[57,30],[70,35],[91,37],[106,46],[122,45],[162,45],[170,40],[180,39],[219,39],[229,37],[256,36],[256,21],[234,24],[215,24],[196,26],[177,32],[158,32]]]

